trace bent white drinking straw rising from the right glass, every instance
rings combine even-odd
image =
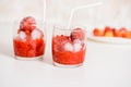
[[[103,3],[102,2],[97,2],[97,3],[92,3],[92,4],[87,4],[87,5],[81,5],[81,7],[72,9],[70,17],[69,17],[69,22],[68,22],[68,27],[67,28],[68,29],[70,28],[71,20],[72,20],[72,16],[73,16],[73,14],[74,14],[75,11],[78,11],[80,9],[85,9],[85,8],[94,8],[94,7],[97,7],[97,5],[100,5],[100,4],[103,4]]]

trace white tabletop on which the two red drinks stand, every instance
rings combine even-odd
[[[131,87],[131,45],[87,40],[83,66],[52,65],[51,27],[44,61],[13,58],[12,24],[0,23],[0,87]]]

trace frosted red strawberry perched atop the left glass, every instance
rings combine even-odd
[[[20,28],[23,30],[33,30],[36,28],[36,22],[35,18],[32,16],[27,16],[25,18],[22,20],[21,24],[20,24]]]

